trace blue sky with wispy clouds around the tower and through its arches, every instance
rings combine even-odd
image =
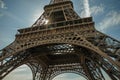
[[[79,16],[86,17],[84,7],[86,1],[72,1]],[[43,13],[44,5],[49,2],[50,0],[0,0],[0,49],[14,41],[17,29],[30,27]],[[89,0],[88,6],[95,28],[120,41],[120,0]],[[19,80],[21,76],[25,76],[25,80],[32,80],[30,75],[32,75],[30,69],[23,65],[4,80]],[[68,75],[71,74],[62,76],[67,80]],[[59,80],[59,76],[56,80]]]

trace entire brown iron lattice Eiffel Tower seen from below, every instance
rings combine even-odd
[[[33,80],[52,80],[64,72],[87,80],[120,80],[120,42],[97,31],[92,17],[81,18],[70,0],[51,0],[28,28],[0,51],[0,80],[26,64]]]

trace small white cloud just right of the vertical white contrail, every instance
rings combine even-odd
[[[91,15],[98,15],[104,12],[104,6],[103,4],[100,4],[99,6],[92,6],[90,8]]]

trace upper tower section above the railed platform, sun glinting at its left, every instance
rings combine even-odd
[[[80,19],[71,0],[51,0],[32,27]]]

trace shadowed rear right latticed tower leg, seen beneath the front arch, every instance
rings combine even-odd
[[[100,66],[92,59],[86,59],[84,54],[81,56],[81,64],[89,80],[105,80]]]

